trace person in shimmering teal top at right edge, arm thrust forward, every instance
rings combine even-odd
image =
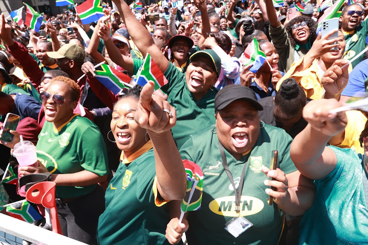
[[[368,123],[360,135],[364,154],[326,147],[346,126],[345,112],[335,99],[309,102],[303,117],[309,123],[293,140],[290,156],[299,172],[314,179],[316,195],[300,223],[299,244],[367,244]]]

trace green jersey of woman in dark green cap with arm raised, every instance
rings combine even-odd
[[[134,74],[143,61],[134,61]],[[181,73],[172,63],[164,73],[169,81],[161,87],[168,95],[167,101],[175,108],[177,121],[171,133],[178,149],[183,146],[189,136],[215,124],[214,98],[217,89],[209,90],[203,98],[197,101],[186,85],[185,74]]]

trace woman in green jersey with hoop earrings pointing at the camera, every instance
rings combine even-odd
[[[168,244],[165,229],[170,218],[164,204],[183,198],[186,175],[170,132],[175,109],[153,97],[153,90],[153,83],[142,92],[136,85],[114,106],[110,126],[122,153],[99,219],[101,245]]]

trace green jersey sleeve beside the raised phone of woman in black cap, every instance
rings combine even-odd
[[[288,174],[290,172],[295,172],[297,169],[290,158],[290,146],[291,146],[292,138],[285,131],[279,133],[278,146],[277,149],[279,151],[279,164],[280,169]]]

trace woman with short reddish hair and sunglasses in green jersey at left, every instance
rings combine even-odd
[[[106,181],[107,154],[99,128],[73,113],[79,95],[79,85],[64,76],[53,78],[41,92],[46,122],[36,145],[38,162],[20,172],[51,172],[63,234],[96,244],[98,217],[105,209],[104,190],[97,183]]]

